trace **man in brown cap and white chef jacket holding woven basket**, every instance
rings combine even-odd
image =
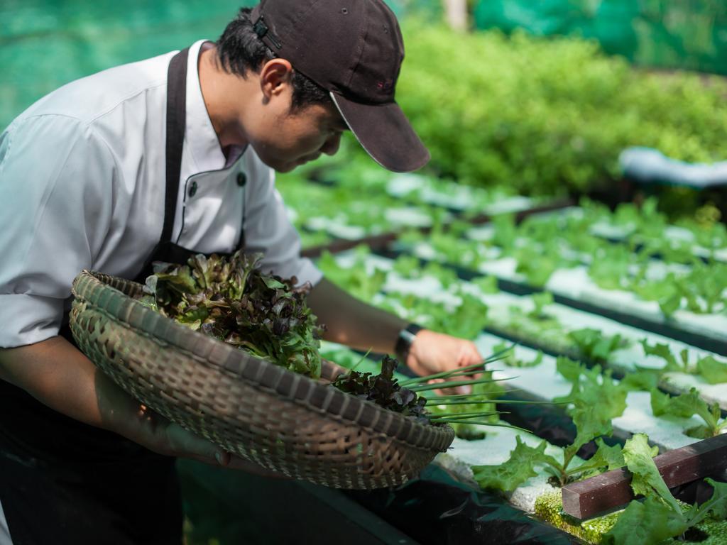
[[[417,374],[481,360],[322,278],[274,189],[352,130],[387,169],[429,156],[394,102],[403,43],[382,0],[263,0],[216,44],[75,81],[0,137],[0,543],[180,543],[174,457],[261,471],[116,387],[68,336],[80,270],[264,251],[315,286],[326,338]],[[9,530],[9,534],[8,534]]]

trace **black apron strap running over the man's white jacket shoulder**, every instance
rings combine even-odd
[[[185,47],[172,57],[166,72],[166,193],[164,194],[164,227],[161,241],[172,240],[174,211],[182,171],[182,147],[187,122],[187,59]]]

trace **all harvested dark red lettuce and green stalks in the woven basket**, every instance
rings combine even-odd
[[[318,326],[316,316],[308,308],[306,296],[310,284],[296,286],[296,278],[284,280],[261,273],[257,267],[261,258],[262,254],[237,251],[229,259],[214,254],[208,259],[197,254],[188,259],[187,265],[156,263],[154,274],[146,279],[141,302],[194,331],[213,336],[289,371],[318,379],[321,377],[319,339],[324,328]],[[352,370],[338,376],[332,386],[421,423],[460,422],[462,418],[492,416],[493,413],[477,411],[459,415],[458,419],[450,419],[454,416],[446,413],[433,415],[425,409],[427,399],[417,392],[456,384],[494,382],[490,377],[448,382],[454,377],[473,378],[489,361],[429,377],[407,379],[400,384],[394,377],[397,361],[385,357],[381,374]],[[427,384],[429,379],[443,382],[431,385]],[[454,397],[458,403],[459,398],[468,396]],[[438,403],[443,401],[441,398]],[[482,401],[473,399],[473,403]]]

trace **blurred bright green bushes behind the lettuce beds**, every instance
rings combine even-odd
[[[475,185],[558,194],[607,185],[646,145],[686,161],[727,157],[727,84],[633,70],[592,41],[406,29],[397,100],[430,168]]]

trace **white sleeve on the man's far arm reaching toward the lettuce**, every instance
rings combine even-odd
[[[249,169],[255,183],[246,195],[246,251],[265,254],[263,272],[272,271],[282,278],[295,276],[299,284],[310,282],[316,286],[323,273],[310,259],[300,255],[300,235],[290,222],[283,199],[275,188],[275,171],[257,156],[250,161]]]

